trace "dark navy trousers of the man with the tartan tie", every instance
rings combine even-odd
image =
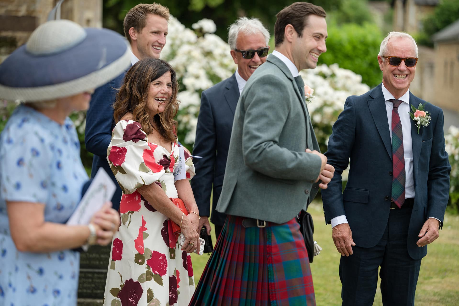
[[[372,248],[354,246],[353,255],[340,261],[343,306],[371,306],[381,266],[384,306],[414,305],[421,260],[408,254],[407,237],[412,208],[391,209],[386,231]]]

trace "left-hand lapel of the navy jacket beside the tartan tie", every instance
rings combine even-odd
[[[371,116],[375,121],[376,129],[378,130],[381,140],[386,147],[387,154],[389,154],[392,160],[392,137],[389,133],[389,122],[387,121],[387,111],[384,96],[382,95],[381,85],[376,86],[371,91],[370,96],[373,99],[369,99],[368,108]]]

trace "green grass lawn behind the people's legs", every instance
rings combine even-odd
[[[331,227],[325,226],[321,203],[313,203],[308,211],[314,219],[314,240],[322,247],[311,264],[317,306],[341,305],[341,282],[338,276],[340,254],[331,239]],[[215,245],[212,231],[212,242]],[[196,283],[202,275],[209,255],[192,254]],[[374,306],[381,306],[381,291],[376,290]],[[416,288],[416,306],[459,305],[459,216],[447,213],[440,237],[429,246],[422,260]]]

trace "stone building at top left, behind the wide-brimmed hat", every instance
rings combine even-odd
[[[0,1],[0,62],[23,45],[59,0],[1,0]],[[84,27],[102,26],[102,0],[65,0],[61,18],[70,19]]]

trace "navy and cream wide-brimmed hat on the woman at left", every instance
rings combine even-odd
[[[130,54],[112,30],[48,21],[0,64],[0,98],[45,101],[90,91],[122,74]]]

